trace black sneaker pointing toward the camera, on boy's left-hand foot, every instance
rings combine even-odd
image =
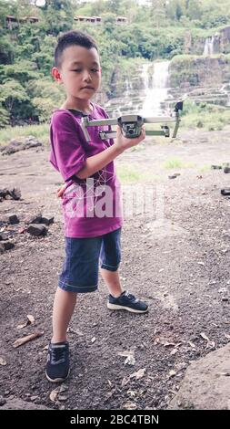
[[[65,382],[69,375],[69,344],[50,343],[46,361],[45,376],[49,382]]]

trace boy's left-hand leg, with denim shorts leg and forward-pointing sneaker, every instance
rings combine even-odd
[[[75,309],[77,293],[93,292],[98,281],[101,238],[65,237],[65,262],[59,276],[53,309],[53,337],[49,344],[45,375],[49,382],[64,382],[69,374],[66,330]]]

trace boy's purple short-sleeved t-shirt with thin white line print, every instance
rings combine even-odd
[[[89,120],[108,118],[97,104],[88,115]],[[51,152],[49,161],[66,182],[63,203],[64,235],[66,237],[95,237],[115,231],[123,224],[120,183],[114,162],[87,179],[78,179],[78,173],[90,156],[114,144],[112,139],[102,141],[98,131],[109,127],[88,127],[90,142],[81,128],[82,115],[77,110],[55,110],[50,125]]]

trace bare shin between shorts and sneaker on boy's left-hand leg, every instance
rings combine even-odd
[[[53,337],[51,342],[66,341],[66,331],[75,309],[76,293],[57,288],[53,308]]]

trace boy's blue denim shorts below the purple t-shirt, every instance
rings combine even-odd
[[[58,287],[67,292],[94,292],[99,264],[116,271],[121,261],[121,228],[94,238],[65,237],[65,262]]]

